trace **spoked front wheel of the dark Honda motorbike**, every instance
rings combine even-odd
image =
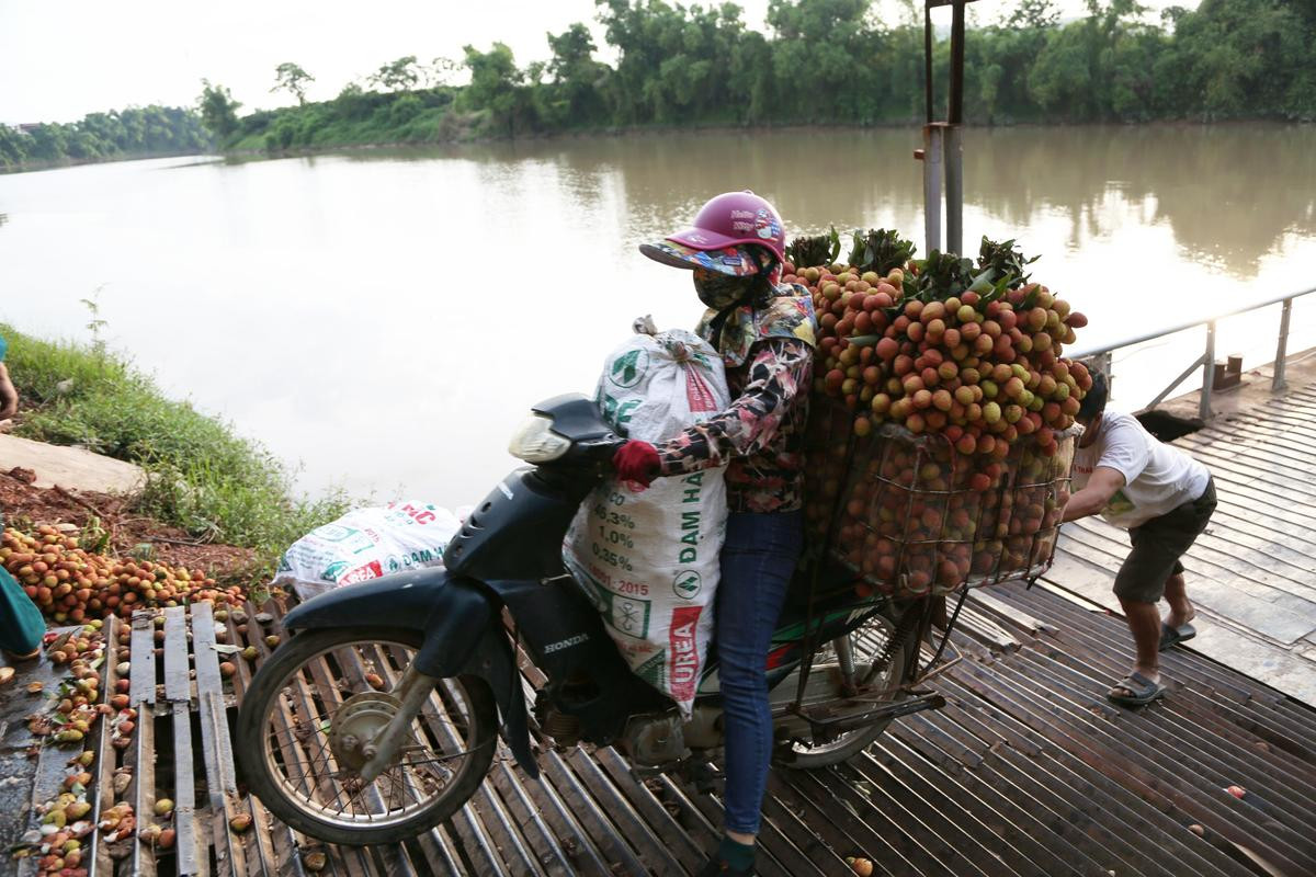
[[[497,746],[497,710],[476,676],[430,693],[392,763],[363,782],[361,742],[396,713],[388,692],[420,648],[401,630],[297,634],[261,667],[236,734],[247,788],[312,838],[349,845],[405,840],[455,813],[483,781]]]

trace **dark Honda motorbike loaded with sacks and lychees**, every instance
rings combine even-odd
[[[567,529],[622,442],[583,396],[542,402],[509,448],[532,467],[490,492],[442,567],[346,585],[284,617],[293,635],[261,665],[236,728],[247,788],[275,817],[337,844],[404,840],[475,793],[500,736],[538,777],[532,734],[541,747],[613,746],[638,774],[709,786],[724,744],[716,643],[682,721],[563,565]],[[911,690],[930,601],[874,594],[819,548],[805,551],[766,667],[774,763],[801,769],[942,703]]]

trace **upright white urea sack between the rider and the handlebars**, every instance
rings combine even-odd
[[[596,400],[619,435],[661,444],[730,404],[721,358],[697,335],[633,335],[612,351]],[[630,668],[688,717],[713,632],[726,529],[721,469],[599,486],[565,557]]]

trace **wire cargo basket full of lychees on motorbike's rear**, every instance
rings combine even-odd
[[[941,596],[1050,568],[1078,429],[1057,433],[1050,455],[1021,437],[998,459],[894,423],[859,437],[844,405],[819,396],[812,404],[805,527],[861,585]]]

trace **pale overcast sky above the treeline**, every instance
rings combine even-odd
[[[1171,1],[1144,0],[1155,9]],[[749,26],[762,29],[767,0],[740,5]],[[979,0],[970,9],[991,22],[1009,5]],[[1083,12],[1082,0],[1059,0],[1059,7],[1066,16]],[[904,14],[896,0],[883,0],[879,9],[894,20]],[[948,22],[949,16],[938,11]],[[228,85],[245,110],[276,107],[291,101],[268,91],[284,60],[316,78],[312,100],[333,97],[345,83],[403,55],[461,58],[465,43],[487,49],[500,39],[525,64],[549,57],[547,32],[576,21],[590,24],[604,47],[594,17],[594,0],[0,0],[0,122],[192,104],[203,78]]]

